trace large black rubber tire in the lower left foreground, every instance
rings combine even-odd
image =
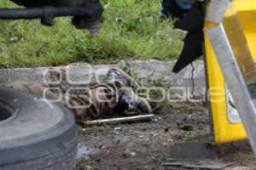
[[[32,94],[0,88],[0,170],[72,170],[76,156],[70,111]]]

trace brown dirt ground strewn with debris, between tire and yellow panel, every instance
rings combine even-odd
[[[202,106],[193,107],[173,109],[155,116],[153,122],[79,127],[78,169],[184,169],[163,167],[161,163],[176,142],[211,139],[207,138],[211,136],[207,111]],[[247,141],[218,147],[219,159],[234,163],[227,169],[256,169]]]

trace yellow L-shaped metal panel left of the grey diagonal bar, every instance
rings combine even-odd
[[[224,77],[206,37],[207,69],[211,95],[212,120],[215,142],[218,144],[245,139],[246,133],[241,123],[233,124],[228,119],[227,102],[224,91]]]

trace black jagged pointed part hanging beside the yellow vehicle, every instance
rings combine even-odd
[[[178,7],[177,1],[184,0],[163,0],[162,14],[169,17],[177,17],[174,22],[174,28],[188,31],[187,36],[183,40],[183,50],[177,59],[176,65],[173,67],[173,72],[181,71],[185,66],[198,59],[203,54],[204,42],[204,20],[205,20],[205,3],[199,1],[186,1],[192,3],[190,9]]]

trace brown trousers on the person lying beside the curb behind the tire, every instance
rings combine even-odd
[[[43,96],[45,99],[61,103],[73,112],[76,119],[85,121],[112,116],[119,95],[124,91],[133,93],[131,88],[125,87],[122,82],[118,81],[102,82],[90,88],[88,93],[81,95],[57,95],[48,88],[29,82],[9,82],[2,84],[2,86]]]

